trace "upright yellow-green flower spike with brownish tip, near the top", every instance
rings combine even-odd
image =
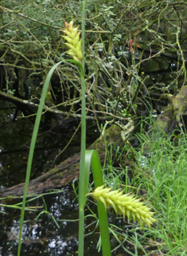
[[[80,32],[78,32],[78,27],[73,27],[72,22],[65,22],[65,29],[61,30],[66,35],[63,38],[68,41],[65,43],[70,49],[68,50],[68,55],[71,56],[75,61],[82,61],[83,53],[81,50],[81,39],[80,39]]]

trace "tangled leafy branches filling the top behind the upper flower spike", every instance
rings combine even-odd
[[[40,84],[54,63],[66,58],[60,30],[65,20],[80,24],[80,9],[80,1],[2,1],[0,65],[5,67],[6,77],[13,67],[18,67],[24,73],[21,77],[27,77],[26,85],[36,74]],[[127,108],[127,114],[117,108],[111,114],[119,119],[131,116],[137,111],[133,105],[142,108],[147,100],[142,87],[149,87],[149,93],[162,93],[185,85],[186,24],[181,23],[185,2],[87,1],[86,12],[85,63],[91,111],[107,112],[107,100],[118,100],[123,109]],[[159,75],[149,77],[153,71]],[[73,72],[76,75],[65,65],[59,67],[57,90],[66,99],[66,106],[76,109],[79,105],[74,97],[80,78],[77,70]]]

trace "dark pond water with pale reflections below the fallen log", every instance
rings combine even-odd
[[[42,208],[25,213],[21,255],[76,255],[78,203],[74,198],[72,189],[64,187],[29,203],[29,206]],[[1,207],[1,211],[6,215],[1,213],[0,255],[17,255],[20,211],[6,207]],[[88,218],[86,223],[92,223],[92,219]],[[98,234],[92,235],[92,241],[85,239],[85,255],[99,255],[97,240]]]

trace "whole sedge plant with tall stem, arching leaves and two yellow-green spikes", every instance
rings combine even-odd
[[[66,60],[72,62],[80,69],[81,77],[81,98],[82,98],[82,112],[81,112],[81,146],[80,146],[80,182],[79,182],[79,249],[78,256],[84,255],[84,205],[86,195],[88,193],[88,180],[90,167],[92,166],[92,173],[95,183],[95,191],[92,195],[97,200],[98,215],[99,215],[99,228],[101,235],[103,256],[111,255],[110,236],[108,230],[107,220],[107,207],[113,207],[117,214],[122,214],[123,217],[127,215],[128,219],[133,218],[137,220],[142,226],[146,223],[150,226],[154,223],[154,218],[150,212],[150,208],[142,206],[142,203],[138,199],[134,199],[132,195],[123,195],[122,191],[111,191],[111,188],[103,187],[103,173],[99,162],[99,156],[97,152],[90,150],[86,151],[86,100],[85,100],[85,80],[84,80],[84,16],[85,16],[86,1],[83,1],[82,8],[82,39],[80,39],[80,32],[78,32],[78,26],[73,26],[73,22],[65,22],[64,39],[67,41],[65,45],[68,46],[68,55],[73,60]],[[56,63],[52,69],[50,69],[41,93],[41,100],[37,111],[37,118],[33,128],[33,136],[29,150],[29,160],[25,178],[25,191],[22,200],[21,207],[21,222],[20,222],[20,234],[18,243],[18,256],[21,251],[21,230],[25,213],[25,200],[29,187],[29,176],[33,161],[33,152],[37,140],[37,132],[39,129],[42,109],[45,104],[45,97],[48,92],[49,82],[55,69],[63,61]]]

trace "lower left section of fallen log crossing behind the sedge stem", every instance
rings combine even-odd
[[[120,128],[113,124],[105,131],[106,144],[113,143],[115,147],[122,146],[123,140],[121,139]],[[99,137],[88,148],[95,149],[99,154],[101,164],[104,163],[105,158],[105,142],[103,137]],[[73,179],[77,179],[80,171],[80,153],[75,154],[54,167],[52,170],[45,174],[33,179],[29,182],[29,194],[44,193],[54,188],[60,188],[67,183],[71,183]],[[6,197],[9,195],[23,195],[25,183],[20,183],[14,187],[6,188],[0,191],[0,197]]]

